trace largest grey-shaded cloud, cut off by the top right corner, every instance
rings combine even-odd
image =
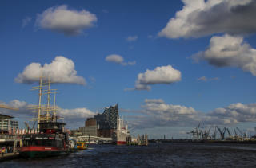
[[[254,0],[182,0],[182,10],[170,18],[158,36],[202,37],[213,33],[255,33]],[[246,18],[246,19],[245,19]]]

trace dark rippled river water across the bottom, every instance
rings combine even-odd
[[[0,167],[256,167],[256,144],[90,145],[65,156],[0,162]]]

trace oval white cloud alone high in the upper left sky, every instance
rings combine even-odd
[[[36,25],[41,29],[72,36],[82,33],[97,21],[95,14],[86,10],[69,10],[66,5],[50,7],[42,14],[38,14]]]

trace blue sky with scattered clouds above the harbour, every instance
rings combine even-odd
[[[132,134],[186,138],[204,127],[254,131],[256,2],[0,2],[1,109],[23,122],[38,76],[58,89],[70,129],[118,104]]]

